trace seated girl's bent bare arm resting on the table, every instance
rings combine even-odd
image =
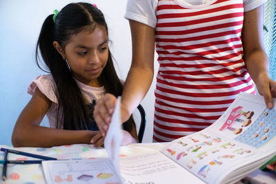
[[[39,126],[52,102],[37,88],[23,109],[12,132],[14,147],[52,147],[90,143],[97,132],[89,130],[58,130]]]

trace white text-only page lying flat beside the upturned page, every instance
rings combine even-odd
[[[121,158],[120,169],[122,180],[129,184],[205,183],[161,152]]]

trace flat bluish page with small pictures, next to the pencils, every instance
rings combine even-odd
[[[121,183],[108,159],[43,161],[48,184],[56,183]]]

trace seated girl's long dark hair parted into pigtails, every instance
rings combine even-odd
[[[83,31],[89,25],[89,30],[93,31],[99,26],[106,28],[106,20],[101,10],[90,3],[70,3],[57,14],[55,22],[54,14],[50,14],[44,21],[36,48],[36,61],[39,64],[39,50],[41,57],[57,85],[56,96],[59,103],[57,113],[57,128],[63,127],[66,130],[92,130],[95,121],[91,118],[92,112],[88,110],[88,103],[81,94],[66,61],[53,46],[53,41],[57,41],[61,47],[65,48],[72,36]],[[99,83],[103,85],[106,92],[115,96],[120,96],[123,85],[115,71],[112,55],[108,50],[108,61],[106,67],[99,76]],[[130,132],[135,123],[130,119],[123,123],[124,130]]]

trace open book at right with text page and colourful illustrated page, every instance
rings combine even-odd
[[[275,154],[276,108],[266,108],[262,96],[241,93],[210,127],[160,152],[121,158],[120,173],[112,176],[119,183],[235,183]]]

